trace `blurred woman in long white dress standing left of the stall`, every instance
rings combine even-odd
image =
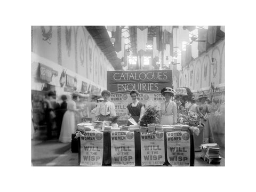
[[[67,102],[67,111],[63,116],[59,141],[63,143],[71,142],[71,134],[76,131],[76,102],[69,100]]]

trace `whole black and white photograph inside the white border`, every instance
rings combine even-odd
[[[225,166],[225,26],[31,26],[32,166]]]

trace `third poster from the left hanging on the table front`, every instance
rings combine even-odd
[[[140,133],[141,142],[141,165],[163,165],[164,132]]]

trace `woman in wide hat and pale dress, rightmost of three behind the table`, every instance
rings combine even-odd
[[[161,103],[160,115],[162,125],[173,125],[177,123],[177,105],[172,101],[175,91],[171,87],[164,87],[161,90],[165,102]]]

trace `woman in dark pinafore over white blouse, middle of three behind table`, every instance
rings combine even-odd
[[[127,115],[129,115],[129,118],[132,117],[135,122],[139,124],[142,116],[144,115],[144,106],[138,101],[138,91],[131,91],[130,95],[132,97],[132,103],[127,105]],[[129,125],[132,125],[130,121],[127,123],[127,126]]]

